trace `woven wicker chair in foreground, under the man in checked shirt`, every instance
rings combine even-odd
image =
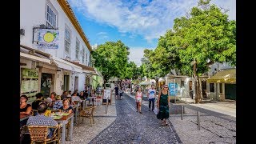
[[[30,132],[31,144],[34,142],[57,142],[60,143],[60,127],[61,126],[27,126]],[[48,130],[54,128],[53,137],[47,138]]]

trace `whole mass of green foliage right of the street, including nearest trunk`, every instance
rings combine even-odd
[[[144,51],[142,67],[150,78],[175,70],[198,79],[214,62],[236,65],[236,22],[210,0],[199,0],[190,14],[174,19],[173,30],[158,39],[155,50]],[[197,86],[196,103],[198,91]]]

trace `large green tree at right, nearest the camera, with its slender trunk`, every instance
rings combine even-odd
[[[174,32],[182,72],[193,74],[195,102],[201,102],[198,76],[206,73],[214,62],[230,62],[235,66],[235,21],[230,21],[226,12],[217,6],[210,5],[210,0],[200,0],[189,17],[174,20]]]

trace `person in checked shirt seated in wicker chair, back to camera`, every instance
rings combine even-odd
[[[38,115],[30,116],[26,122],[26,126],[58,126],[58,122],[56,122],[53,118],[44,115],[47,108],[48,106],[46,102],[40,102],[38,105]],[[47,138],[51,138],[53,134],[54,129],[50,128],[50,130],[48,130]]]

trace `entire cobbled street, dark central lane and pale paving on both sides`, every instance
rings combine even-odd
[[[87,119],[74,126],[72,141],[66,143],[186,143],[213,144],[236,143],[236,118],[203,109],[196,105],[170,106],[170,126],[160,126],[160,120],[148,111],[148,101],[144,96],[142,114],[136,112],[134,95],[123,94],[122,100],[112,98],[111,105],[97,106],[94,121]],[[197,112],[200,113],[198,130]]]

